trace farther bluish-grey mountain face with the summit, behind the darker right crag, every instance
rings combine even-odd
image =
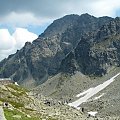
[[[113,18],[89,14],[68,15],[54,21],[38,39],[0,62],[0,77],[11,77],[26,87],[44,83],[60,71],[61,61],[89,32],[95,32]],[[58,34],[59,33],[59,34]]]

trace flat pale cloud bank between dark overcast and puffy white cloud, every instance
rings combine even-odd
[[[51,19],[41,18],[34,16],[32,13],[16,13],[11,12],[8,15],[1,17],[0,23],[12,26],[12,27],[26,27],[29,25],[39,25],[42,26],[46,24]]]

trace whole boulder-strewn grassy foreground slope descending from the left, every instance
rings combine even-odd
[[[58,104],[58,102],[52,105],[45,104],[51,99],[45,97],[38,99],[36,93],[14,84],[0,84],[0,90],[0,108],[3,108],[4,113],[2,114],[5,114],[6,120],[78,120],[87,118],[87,115],[81,111],[67,105]]]

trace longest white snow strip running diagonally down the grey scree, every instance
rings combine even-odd
[[[80,94],[78,94],[76,97],[80,97],[80,96],[83,96],[81,98],[79,98],[78,100],[72,102],[72,103],[69,103],[68,105],[69,106],[72,106],[72,107],[75,107],[76,109],[80,109],[80,105],[84,102],[86,102],[89,98],[91,98],[92,96],[94,96],[95,94],[97,94],[98,92],[100,92],[101,90],[103,90],[104,88],[106,88],[110,83],[112,83],[115,78],[117,76],[119,76],[120,73],[116,74],[115,76],[113,76],[111,79],[105,81],[104,83],[96,86],[95,88],[90,88]]]

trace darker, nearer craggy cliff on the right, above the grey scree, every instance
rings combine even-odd
[[[120,21],[116,18],[96,32],[81,37],[74,51],[62,61],[61,70],[71,72],[72,69],[72,72],[81,71],[87,75],[104,75],[112,66],[120,65],[119,50]]]

